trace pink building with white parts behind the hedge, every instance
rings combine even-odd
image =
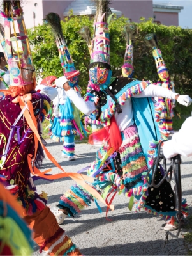
[[[134,22],[139,22],[140,17],[154,18],[155,21],[166,26],[178,26],[178,13],[183,9],[182,6],[153,3],[152,0],[112,0],[110,7],[117,17],[124,15]],[[94,15],[96,12],[91,0],[27,0],[24,4],[26,27],[33,28],[42,24],[49,12],[58,13],[63,19],[68,16],[70,10],[73,10],[74,15]]]

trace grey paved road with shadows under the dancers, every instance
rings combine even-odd
[[[54,155],[55,159],[63,166],[66,172],[77,172],[88,166],[95,158],[96,147],[87,144],[77,144],[75,153],[78,158],[75,161],[66,161],[61,157],[61,143],[47,140],[47,148]],[[188,200],[189,212],[192,213],[192,157],[182,157],[182,191],[183,196]],[[50,161],[45,160],[42,170],[54,167]],[[56,168],[52,173],[57,173]],[[60,179],[54,182],[37,180],[38,193],[48,193],[48,205],[54,207],[59,196],[74,184],[73,180]],[[105,219],[106,207],[100,203],[103,213],[99,213],[95,204],[85,209],[75,218],[67,218],[61,227],[66,230],[73,243],[77,244],[84,255],[186,255],[188,249],[184,243],[182,232],[177,239],[169,237],[169,242],[164,248],[165,221],[158,217],[151,216],[144,211],[139,213],[130,212],[128,199],[124,195],[116,195],[114,199],[115,211],[110,211]],[[40,255],[38,247],[34,248],[33,255]]]

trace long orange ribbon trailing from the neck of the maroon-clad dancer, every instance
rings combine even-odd
[[[28,109],[24,110],[24,117],[26,118],[27,124],[29,125],[31,130],[34,132],[34,145],[35,145],[34,159],[36,157],[36,152],[37,152],[37,148],[38,148],[38,141],[39,141],[41,146],[45,150],[45,153],[46,153],[48,159],[50,159],[50,161],[52,161],[52,163],[54,163],[55,166],[57,166],[62,172],[64,172],[64,173],[58,173],[58,174],[54,174],[54,175],[45,175],[45,173],[49,172],[50,170],[47,170],[45,172],[40,172],[40,170],[38,170],[38,168],[36,168],[36,167],[32,168],[31,161],[33,159],[33,156],[29,154],[27,156],[27,161],[28,161],[31,173],[33,175],[44,177],[45,179],[50,179],[50,180],[52,180],[52,179],[61,179],[63,177],[70,177],[71,179],[75,180],[78,184],[80,184],[80,186],[82,186],[84,189],[89,191],[89,193],[91,193],[95,198],[97,198],[98,200],[103,202],[103,204],[107,205],[108,208],[110,208],[112,211],[114,211],[114,205],[107,204],[105,202],[105,200],[103,200],[101,195],[95,189],[91,188],[91,186],[89,186],[86,183],[86,182],[91,182],[92,183],[94,178],[89,177],[87,175],[80,174],[80,173],[66,173],[63,170],[63,168],[59,165],[59,163],[57,163],[57,161],[54,159],[52,154],[50,154],[50,152],[47,150],[47,148],[43,145],[43,143],[41,142],[40,135],[38,134],[37,122],[36,122],[36,118],[34,116],[33,105],[31,103],[30,99],[31,99],[31,95],[26,94],[24,96],[18,96],[17,98],[15,98],[13,100],[13,103],[18,102],[19,105],[20,105],[20,108],[22,110],[25,108],[26,104],[29,108],[29,111],[28,111]]]

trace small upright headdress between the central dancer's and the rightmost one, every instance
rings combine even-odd
[[[135,34],[135,26],[128,24],[123,28],[123,36],[126,40],[126,51],[124,54],[124,64],[122,65],[122,76],[132,77],[133,67],[133,35]]]

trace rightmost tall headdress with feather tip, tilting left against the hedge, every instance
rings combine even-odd
[[[152,47],[152,56],[156,63],[159,78],[163,82],[167,81],[169,79],[168,69],[166,68],[165,62],[163,60],[161,50],[158,49],[158,40],[156,35],[153,33],[147,34],[145,36],[145,40],[147,44]]]

